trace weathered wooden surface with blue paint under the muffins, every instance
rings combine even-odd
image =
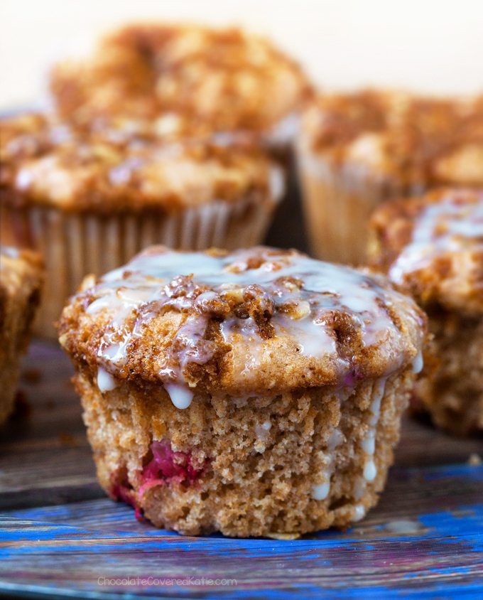
[[[378,507],[344,532],[292,541],[182,537],[104,498],[57,348],[34,344],[26,365],[30,414],[0,431],[0,594],[483,597],[483,465],[475,456],[467,462],[483,454],[481,440],[406,419]]]

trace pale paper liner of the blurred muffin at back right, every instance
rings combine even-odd
[[[307,150],[298,152],[297,168],[313,254],[332,262],[364,264],[371,213],[405,190],[387,177],[374,176],[364,165],[334,164]]]

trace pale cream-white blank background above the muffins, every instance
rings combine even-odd
[[[146,18],[266,33],[325,89],[483,91],[483,0],[0,0],[0,107],[40,102],[48,65]]]

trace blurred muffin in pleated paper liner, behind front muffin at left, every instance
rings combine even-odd
[[[37,114],[0,122],[2,239],[45,257],[36,326],[45,336],[86,274],[158,242],[260,242],[283,193],[281,168],[248,141],[175,141],[112,123],[74,129]]]

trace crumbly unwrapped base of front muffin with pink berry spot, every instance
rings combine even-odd
[[[102,394],[86,370],[76,386],[112,498],[158,527],[248,537],[363,518],[384,488],[412,381],[406,370],[355,388],[195,394],[185,410],[161,385],[119,382]]]

